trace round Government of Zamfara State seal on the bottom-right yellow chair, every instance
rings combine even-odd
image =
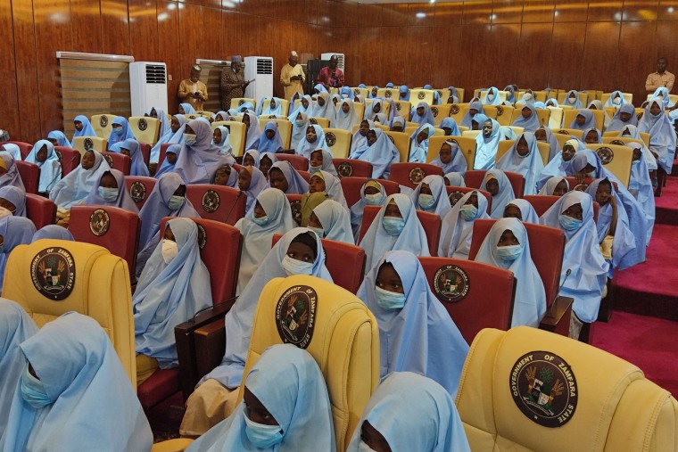
[[[543,427],[561,427],[575,415],[575,373],[555,353],[531,351],[519,357],[509,374],[509,390],[518,409]]]

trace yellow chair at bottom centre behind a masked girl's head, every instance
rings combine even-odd
[[[305,323],[299,320],[304,314]],[[266,284],[259,298],[244,375],[265,349],[280,343],[293,343],[315,358],[332,403],[336,449],[345,450],[379,382],[375,317],[351,292],[323,279],[307,275],[276,278]]]

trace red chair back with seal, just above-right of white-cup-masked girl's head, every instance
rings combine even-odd
[[[244,217],[247,195],[237,188],[211,184],[186,185],[186,197],[201,218],[235,225],[237,220]]]

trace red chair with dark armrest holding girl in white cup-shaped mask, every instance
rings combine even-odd
[[[170,219],[172,218],[162,218],[161,237]],[[200,257],[210,272],[214,306],[204,314],[187,319],[186,322],[175,327],[179,366],[156,370],[148,380],[136,388],[139,401],[145,409],[168,399],[179,390],[183,390],[186,398],[193,392],[195,384],[204,375],[198,374],[195,357],[200,350],[194,349],[194,331],[217,319],[220,320],[217,323],[223,327],[223,316],[226,316],[235,302],[233,297],[236,296],[243,236],[235,227],[219,221],[204,218],[191,219],[198,225]],[[223,350],[221,355],[223,356]]]

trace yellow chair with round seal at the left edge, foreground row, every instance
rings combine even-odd
[[[136,390],[132,291],[125,259],[82,242],[44,239],[17,246],[4,270],[3,297],[19,303],[38,327],[69,311],[94,318]]]

